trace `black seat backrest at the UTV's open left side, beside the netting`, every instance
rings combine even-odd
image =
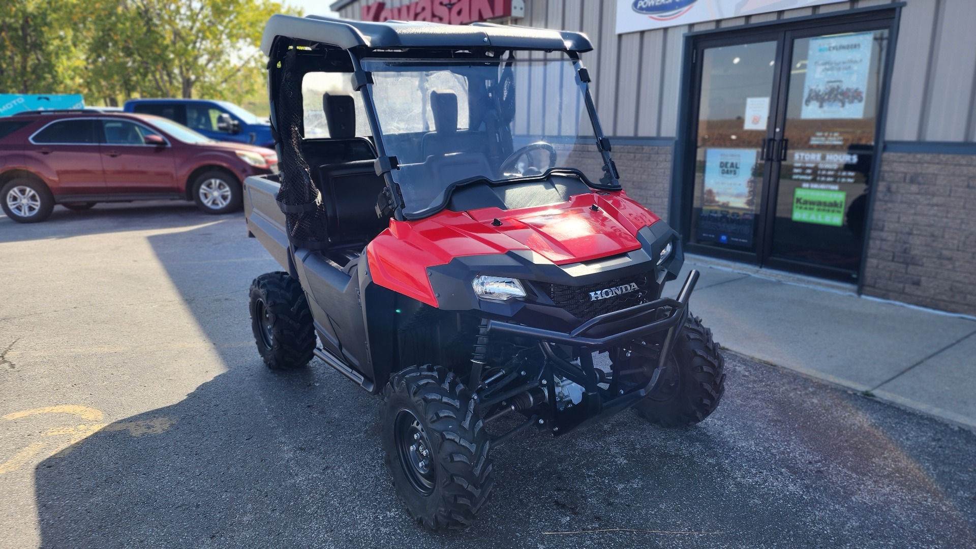
[[[333,243],[368,243],[389,225],[376,217],[376,201],[386,187],[372,160],[356,160],[319,167],[322,201],[329,215]]]

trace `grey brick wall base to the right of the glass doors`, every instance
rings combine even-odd
[[[886,152],[864,293],[976,315],[976,156]]]

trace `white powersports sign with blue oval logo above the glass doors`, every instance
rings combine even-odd
[[[617,0],[617,34],[754,16],[843,0]]]

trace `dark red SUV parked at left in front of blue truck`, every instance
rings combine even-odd
[[[30,111],[0,118],[0,206],[19,223],[55,204],[179,198],[205,212],[238,209],[241,182],[277,172],[269,148],[215,142],[172,120],[98,110]]]

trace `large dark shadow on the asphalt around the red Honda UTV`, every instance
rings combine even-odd
[[[427,534],[393,495],[380,401],[318,360],[264,368],[247,289],[271,264],[222,245],[244,236],[220,227],[150,241],[227,370],[126,418],[173,420],[162,432],[109,426],[42,462],[44,547],[976,545],[971,433],[734,356],[703,424],[627,412],[564,439],[523,434],[494,451],[480,521]],[[546,533],[594,528],[669,532]]]

